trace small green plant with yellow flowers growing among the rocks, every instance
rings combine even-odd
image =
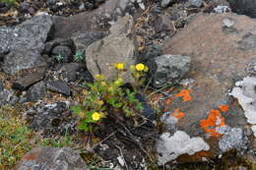
[[[95,82],[87,84],[88,89],[83,89],[80,104],[72,108],[80,117],[80,130],[93,132],[103,118],[125,120],[127,117],[136,116],[143,109],[142,103],[135,97],[136,91],[123,87],[124,80],[120,76],[127,71],[125,66],[125,63],[113,64],[116,71],[113,80],[105,80],[103,75],[95,75]],[[148,67],[140,63],[131,66],[130,70],[141,85],[141,78],[148,71]]]

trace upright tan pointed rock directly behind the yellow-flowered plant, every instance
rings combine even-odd
[[[131,16],[120,18],[111,28],[110,34],[91,44],[86,51],[86,62],[91,74],[103,74],[106,79],[115,75],[113,63],[135,63],[135,45],[131,34],[133,19]],[[132,81],[131,74],[125,73],[124,80]]]

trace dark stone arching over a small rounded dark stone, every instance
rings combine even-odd
[[[76,46],[72,39],[55,38],[55,39],[45,43],[43,53],[45,53],[47,55],[51,55],[51,51],[56,46],[66,46],[71,49],[72,53],[76,52]]]

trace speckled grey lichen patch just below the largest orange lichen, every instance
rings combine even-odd
[[[227,151],[231,148],[242,148],[244,147],[247,140],[243,136],[242,129],[232,128],[227,132],[219,142],[219,147],[222,151]]]

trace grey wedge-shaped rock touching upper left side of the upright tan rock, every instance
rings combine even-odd
[[[79,31],[73,33],[71,39],[74,41],[77,50],[86,50],[96,40],[102,39],[106,35],[103,31]]]

